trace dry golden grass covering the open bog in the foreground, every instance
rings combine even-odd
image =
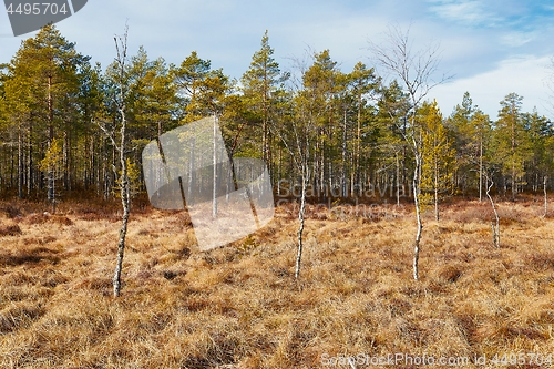
[[[0,367],[320,368],[358,353],[554,353],[554,219],[540,216],[540,203],[499,206],[497,249],[486,203],[454,203],[440,223],[425,214],[419,281],[409,207],[366,218],[311,208],[299,281],[290,206],[206,253],[186,214],[146,209],[132,215],[114,299],[116,211],[65,205],[52,216],[3,204]]]

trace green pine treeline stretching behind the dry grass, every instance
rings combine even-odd
[[[124,75],[130,176],[144,191],[143,147],[197,119],[219,117],[229,156],[266,161],[275,191],[290,193],[301,165],[310,196],[409,196],[414,164],[407,132],[422,143],[421,193],[484,196],[544,191],[554,177],[554,129],[510,93],[499,115],[469,93],[449,116],[433,101],[418,107],[397,82],[361,62],[345,73],[328,50],[281,72],[267,32],[239,80],[192,52],[181,64],[130,57]],[[71,192],[115,196],[120,119],[114,64],[91,65],[53,25],[22,42],[0,72],[0,192],[54,198]],[[114,134],[111,134],[114,133]],[[297,153],[304,161],[298,161]],[[301,165],[299,165],[299,163]],[[304,163],[304,164],[302,164]]]

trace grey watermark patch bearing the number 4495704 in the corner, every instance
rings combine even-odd
[[[58,23],[80,11],[86,4],[88,0],[47,1],[48,2],[32,2],[29,0],[3,1],[14,37],[38,31],[50,23]]]

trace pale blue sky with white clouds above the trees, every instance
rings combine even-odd
[[[509,93],[523,111],[554,117],[554,2],[521,0],[89,0],[57,24],[76,50],[103,68],[113,61],[113,38],[129,25],[129,50],[179,64],[192,51],[214,69],[239,79],[267,30],[283,71],[295,60],[328,49],[342,72],[375,63],[370,42],[382,44],[390,27],[409,30],[412,50],[438,45],[434,78],[452,75],[429,93],[448,116],[470,92],[473,104],[496,119]],[[0,12],[0,63],[9,62],[28,33],[14,38]]]

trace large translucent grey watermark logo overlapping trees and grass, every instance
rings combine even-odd
[[[229,158],[216,117],[163,134],[144,147],[142,160],[151,204],[186,208],[202,250],[240,239],[274,217],[264,161]]]

